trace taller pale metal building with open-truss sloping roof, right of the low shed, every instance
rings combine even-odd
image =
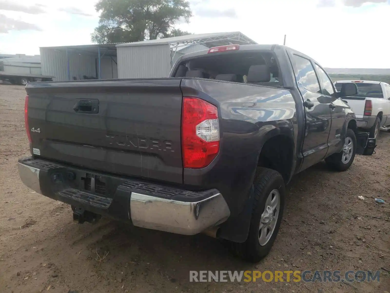
[[[229,43],[257,44],[241,32],[193,34],[117,44],[118,78],[167,77],[180,55]]]

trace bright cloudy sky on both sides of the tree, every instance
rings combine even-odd
[[[97,0],[0,0],[0,53],[90,44]],[[191,0],[193,33],[241,31],[333,68],[390,68],[390,0]]]

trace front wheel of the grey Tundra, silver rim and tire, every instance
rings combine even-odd
[[[326,164],[336,171],[346,171],[352,165],[356,154],[356,136],[352,129],[348,129],[341,152],[325,159]]]

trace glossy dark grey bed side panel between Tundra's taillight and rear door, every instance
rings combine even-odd
[[[236,214],[252,186],[265,141],[283,134],[296,145],[294,98],[287,89],[204,79],[183,79],[181,89],[183,96],[199,97],[218,107],[221,139],[216,159],[200,170],[184,169],[183,182],[217,188]]]

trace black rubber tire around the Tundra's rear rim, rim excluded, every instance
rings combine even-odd
[[[276,225],[265,245],[259,243],[259,225],[268,196],[273,190],[279,193],[280,205]],[[282,175],[275,170],[259,167],[254,180],[254,203],[248,238],[244,243],[231,242],[233,253],[251,263],[261,261],[271,250],[279,231],[284,211],[285,185]]]

